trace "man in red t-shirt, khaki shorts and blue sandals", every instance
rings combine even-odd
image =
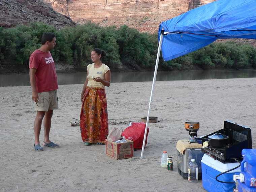
[[[37,111],[34,123],[35,151],[43,151],[39,142],[43,118],[44,146],[60,147],[49,139],[53,110],[58,109],[58,82],[54,60],[50,53],[50,50],[56,45],[56,37],[53,33],[43,33],[41,43],[41,47],[35,50],[29,58],[32,99],[35,102],[35,110]]]

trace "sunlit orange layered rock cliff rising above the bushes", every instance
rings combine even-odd
[[[127,25],[140,32],[157,32],[159,23],[215,0],[43,0],[74,22],[101,26]]]

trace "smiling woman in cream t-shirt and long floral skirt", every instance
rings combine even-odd
[[[87,66],[86,81],[81,93],[80,130],[84,145],[104,145],[108,135],[107,100],[104,87],[110,86],[110,70],[101,62],[104,51],[91,52],[93,63]]]

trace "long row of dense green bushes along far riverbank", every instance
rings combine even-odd
[[[100,27],[90,22],[61,30],[41,22],[9,29],[0,27],[0,64],[8,62],[27,66],[30,54],[41,46],[40,38],[44,32],[56,34],[57,45],[51,51],[55,62],[86,66],[92,62],[91,51],[99,48],[106,52],[103,62],[110,68],[118,68],[121,64],[132,69],[155,66],[157,34],[140,33],[126,25]],[[256,49],[249,44],[234,42],[212,43],[168,62],[162,57],[159,60],[159,68],[164,70],[249,67],[256,68]]]

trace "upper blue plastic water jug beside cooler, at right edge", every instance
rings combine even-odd
[[[256,149],[243,149],[244,160],[241,163],[241,173],[247,187],[256,188]]]

